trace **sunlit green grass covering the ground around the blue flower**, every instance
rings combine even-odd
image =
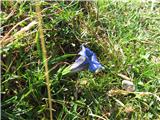
[[[19,32],[38,22],[35,2],[1,6],[1,118],[49,119],[38,24]],[[41,10],[53,119],[160,119],[160,3],[45,1]],[[105,70],[62,76],[83,43]],[[118,74],[133,80],[135,92],[121,91]]]

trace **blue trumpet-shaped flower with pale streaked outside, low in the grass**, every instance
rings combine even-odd
[[[78,57],[75,62],[70,66],[71,72],[78,72],[88,68],[91,72],[99,72],[104,67],[98,62],[96,54],[89,48],[81,46],[82,50],[78,53]]]

